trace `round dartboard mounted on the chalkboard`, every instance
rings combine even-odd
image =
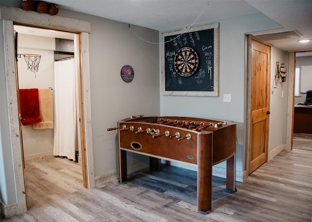
[[[199,63],[196,51],[189,47],[177,51],[174,61],[176,72],[184,77],[193,75]]]

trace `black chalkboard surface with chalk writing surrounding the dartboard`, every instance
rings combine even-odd
[[[214,28],[167,35],[164,36],[164,42],[165,91],[215,91],[214,64],[218,58],[215,58]],[[175,68],[176,54],[185,47],[191,48],[198,55],[198,67],[190,76],[182,76]]]

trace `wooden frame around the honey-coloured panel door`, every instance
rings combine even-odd
[[[259,43],[262,43],[264,45],[267,45],[269,47],[271,47],[270,44],[266,43],[265,41],[251,35],[248,34],[246,37],[246,41],[247,41],[247,98],[246,98],[246,176],[248,177],[248,175],[250,174],[249,172],[249,158],[250,158],[250,153],[249,153],[249,149],[250,149],[250,132],[251,132],[251,79],[252,79],[252,40],[255,40]],[[271,55],[270,55],[271,56]],[[271,58],[271,57],[270,57]],[[269,61],[271,63],[271,61]],[[270,70],[268,70],[270,72]],[[270,72],[271,75],[271,72]],[[270,81],[270,78],[269,78]],[[269,94],[269,104],[270,104],[270,94]],[[270,108],[269,108],[270,110]],[[269,121],[268,121],[268,129],[270,128],[269,125]],[[269,130],[266,131],[266,137],[268,138],[269,136]],[[267,149],[268,149],[268,140],[267,140]],[[267,150],[267,156],[266,159],[268,160],[268,150]]]

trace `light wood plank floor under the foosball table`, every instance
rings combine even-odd
[[[312,135],[295,135],[282,151],[254,171],[236,193],[213,178],[213,206],[196,212],[196,173],[162,166],[129,182],[82,186],[81,166],[55,158],[26,165],[25,214],[1,222],[311,222]]]

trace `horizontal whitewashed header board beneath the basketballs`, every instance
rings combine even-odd
[[[91,24],[88,21],[67,18],[61,16],[50,16],[44,13],[25,11],[20,8],[1,5],[1,18],[23,24],[46,26],[49,28],[76,31],[83,33],[91,32]]]

